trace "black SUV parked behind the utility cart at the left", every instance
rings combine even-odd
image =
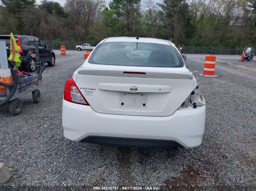
[[[35,41],[38,42],[39,39],[37,37],[25,35],[14,35],[14,37],[17,39],[16,43],[20,47],[20,55],[29,58],[28,63],[21,63],[21,68],[28,68],[29,72],[35,72],[35,62],[32,59],[31,54],[35,54]],[[11,35],[0,35],[0,40],[5,41],[6,43],[7,58],[10,55],[10,38]],[[39,44],[39,58],[40,60],[43,58],[44,63],[48,63],[48,66],[55,65],[55,53],[42,41]]]

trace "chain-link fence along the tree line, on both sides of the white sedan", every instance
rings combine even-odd
[[[75,46],[84,43],[85,41],[76,40],[42,40],[50,49],[60,49],[61,45],[66,46],[66,50],[75,50]],[[96,46],[96,43],[90,43],[90,46]],[[184,54],[213,54],[213,55],[242,55],[243,48],[241,47],[226,47],[226,46],[186,46],[180,45]]]

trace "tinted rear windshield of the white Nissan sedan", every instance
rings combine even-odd
[[[173,46],[155,43],[111,42],[99,44],[91,54],[91,64],[183,67],[183,61]]]

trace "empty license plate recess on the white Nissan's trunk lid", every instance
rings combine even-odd
[[[147,108],[147,94],[120,94],[120,107]]]

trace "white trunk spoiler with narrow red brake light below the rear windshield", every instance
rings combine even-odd
[[[105,68],[79,68],[81,75],[120,76],[120,77],[142,77],[142,78],[170,78],[170,79],[193,79],[192,72],[170,72],[150,70],[124,70]]]

